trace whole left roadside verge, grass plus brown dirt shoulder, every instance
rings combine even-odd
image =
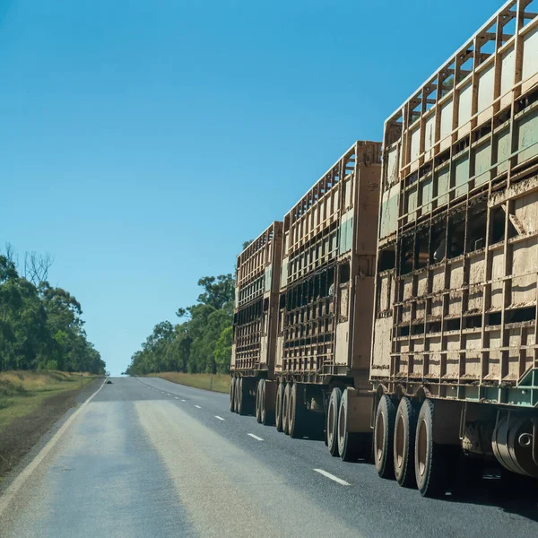
[[[0,372],[0,477],[76,404],[81,387],[95,379],[59,371]]]

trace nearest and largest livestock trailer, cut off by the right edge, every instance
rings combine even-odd
[[[377,472],[538,476],[538,17],[511,1],[385,123]],[[527,8],[528,5],[528,8]],[[535,11],[535,10],[534,10]],[[464,455],[464,456],[462,456]]]

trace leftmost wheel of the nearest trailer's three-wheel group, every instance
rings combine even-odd
[[[395,404],[387,395],[382,395],[377,404],[374,426],[374,462],[381,478],[394,478]]]

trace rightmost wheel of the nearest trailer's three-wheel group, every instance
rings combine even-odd
[[[415,439],[415,475],[422,497],[439,497],[445,493],[453,459],[451,447],[433,442],[433,413],[435,404],[424,400],[417,420]],[[447,456],[447,457],[446,457]]]

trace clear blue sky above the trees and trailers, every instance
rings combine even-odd
[[[117,374],[500,5],[3,0],[0,246]]]

